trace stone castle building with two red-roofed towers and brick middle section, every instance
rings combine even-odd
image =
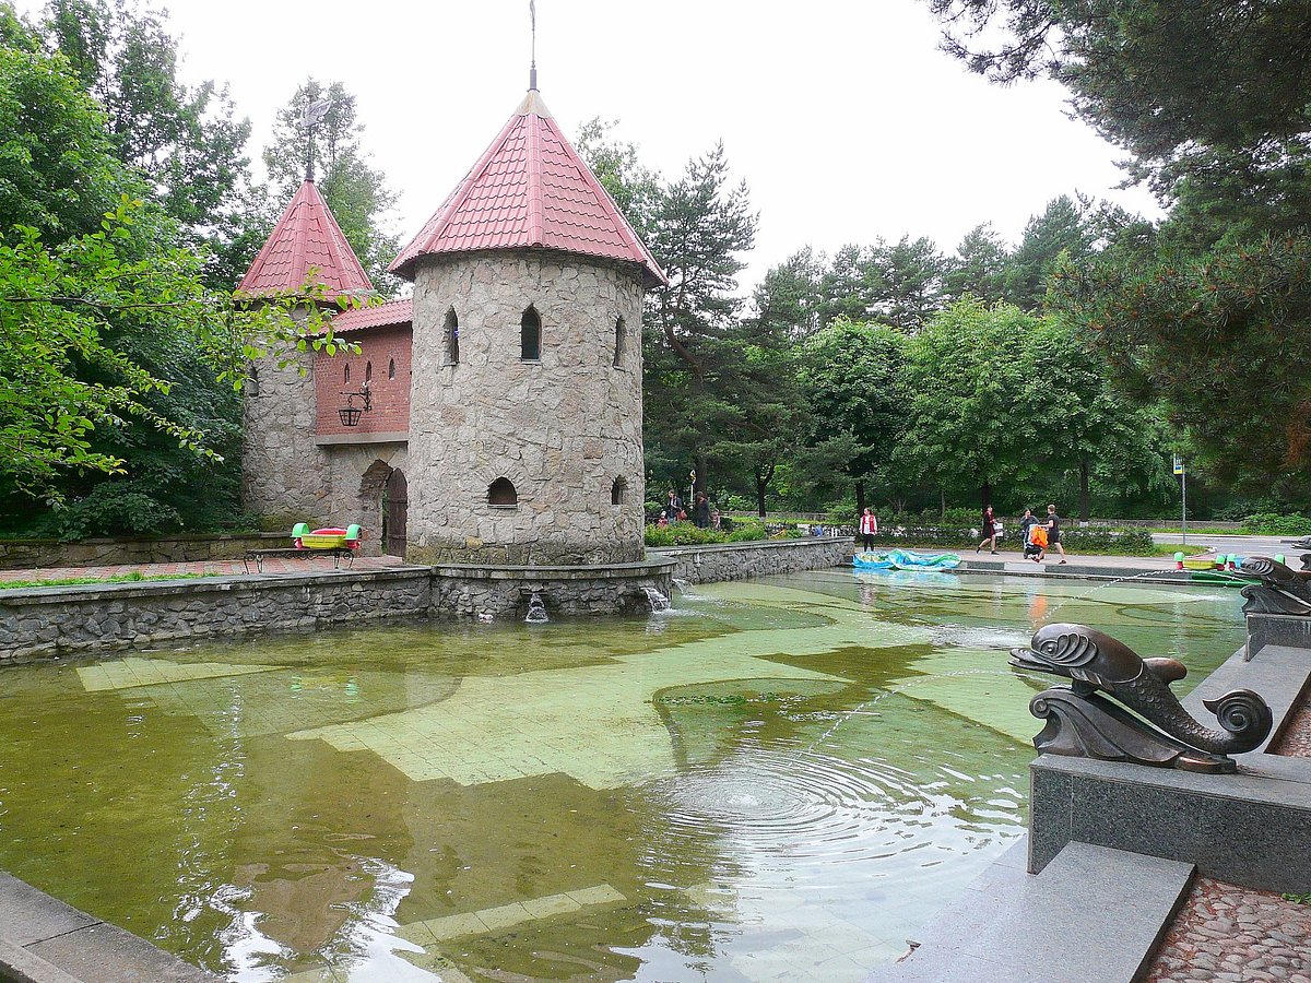
[[[256,366],[246,506],[416,562],[642,560],[641,311],[665,277],[535,85],[391,270],[410,299],[333,318],[359,354]],[[240,288],[311,277],[372,291],[305,181]]]

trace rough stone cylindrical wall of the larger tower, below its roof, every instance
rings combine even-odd
[[[642,558],[641,274],[545,250],[426,257],[416,269],[409,549],[414,562]],[[520,359],[520,318],[541,358]],[[459,318],[459,363],[443,325]],[[624,354],[614,364],[615,324]],[[492,506],[509,478],[518,505]],[[621,505],[611,488],[623,478]]]

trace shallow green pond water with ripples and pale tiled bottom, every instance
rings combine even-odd
[[[691,590],[0,670],[0,868],[235,980],[859,980],[1023,834],[1009,646],[1243,641],[1221,588]]]

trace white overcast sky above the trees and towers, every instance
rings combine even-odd
[[[402,241],[527,88],[527,0],[168,9],[184,76],[229,85],[254,160],[307,76],[354,92]],[[1155,214],[1146,191],[1116,190],[1122,155],[1067,117],[1063,89],[988,85],[937,42],[919,0],[538,0],[539,89],[570,139],[593,117],[617,119],[666,177],[724,140],[760,214],[743,292],[806,244],[831,253],[909,232],[952,252],[981,222],[1015,242],[1074,190]]]

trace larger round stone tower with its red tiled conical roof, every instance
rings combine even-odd
[[[665,274],[535,84],[391,269],[414,282],[406,557],[641,560],[642,296]]]

